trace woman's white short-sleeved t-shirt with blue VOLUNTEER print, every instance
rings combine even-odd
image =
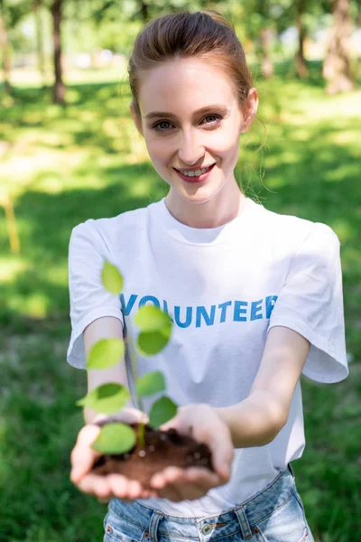
[[[310,341],[304,375],[339,382],[348,375],[339,247],[329,226],[266,210],[249,198],[239,216],[212,229],[181,224],[165,198],[87,220],[72,230],[69,243],[67,360],[86,369],[82,333],[102,316],[125,318],[135,341],[134,314],[154,304],[171,315],[171,341],[152,358],[138,356],[139,377],[162,370],[166,394],[179,406],[245,399],[275,325]],[[125,277],[120,299],[101,283],[105,259]],[[161,395],[145,397],[144,409]],[[227,484],[199,500],[138,501],[178,517],[218,514],[262,491],[304,447],[299,381],[287,424],[270,444],[236,449]]]

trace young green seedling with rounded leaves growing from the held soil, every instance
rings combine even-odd
[[[102,270],[102,283],[115,295],[123,290],[123,276],[116,266],[105,262]],[[153,356],[160,352],[171,338],[171,318],[155,306],[144,305],[134,316],[134,323],[140,328],[137,350],[143,356]],[[131,372],[135,383],[137,405],[143,412],[142,397],[153,396],[165,390],[162,372],[155,370],[138,377],[136,354],[132,337],[127,333],[125,341],[121,339],[101,339],[88,353],[87,369],[108,369],[119,362],[125,355],[125,342],[131,358]],[[96,412],[112,415],[124,408],[131,397],[129,390],[117,382],[109,382],[93,389],[87,396],[76,402],[77,406],[88,406]],[[178,407],[171,397],[163,395],[157,399],[149,412],[149,425],[154,429],[177,414]],[[139,444],[145,446],[144,424],[139,424]],[[92,448],[100,453],[120,454],[131,450],[136,443],[134,430],[121,422],[103,425]]]

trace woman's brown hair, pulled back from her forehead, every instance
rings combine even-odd
[[[137,35],[128,62],[134,112],[140,117],[139,83],[143,71],[174,58],[199,56],[224,71],[241,106],[253,87],[245,51],[234,26],[214,10],[165,14],[147,23]]]

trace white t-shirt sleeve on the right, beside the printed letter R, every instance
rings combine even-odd
[[[340,242],[326,224],[315,222],[292,257],[268,332],[276,325],[310,341],[306,377],[323,383],[347,378]]]

